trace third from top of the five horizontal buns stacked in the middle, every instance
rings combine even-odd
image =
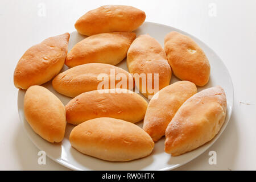
[[[98,80],[98,76],[104,74],[108,81],[108,88],[133,89],[133,76],[122,68],[110,64],[88,63],[79,65],[60,73],[52,80],[53,88],[68,97],[76,97],[81,93],[97,90],[104,78]],[[114,83],[113,85],[112,82]],[[123,84],[122,84],[123,82]],[[100,89],[104,89],[104,85]],[[108,89],[105,88],[105,89]]]

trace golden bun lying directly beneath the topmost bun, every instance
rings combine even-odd
[[[113,32],[89,36],[71,49],[65,64],[68,67],[85,63],[116,65],[125,59],[135,38],[136,34],[133,32]]]

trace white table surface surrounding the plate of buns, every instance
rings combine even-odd
[[[180,170],[256,169],[256,1],[0,1],[0,170],[68,170],[46,159],[28,139],[17,109],[13,72],[27,48],[49,36],[75,31],[75,21],[101,5],[138,7],[148,22],[179,28],[203,40],[224,61],[234,84],[234,107],[226,130],[206,152]],[[45,14],[43,8],[45,7]],[[216,10],[216,11],[214,11]],[[45,15],[45,16],[44,16]],[[217,164],[209,165],[209,151]]]

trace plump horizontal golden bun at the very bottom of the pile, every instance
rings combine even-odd
[[[96,118],[74,127],[72,147],[95,158],[125,162],[150,155],[154,142],[139,126],[114,118]]]

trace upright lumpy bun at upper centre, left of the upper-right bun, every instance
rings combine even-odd
[[[166,53],[149,35],[140,35],[131,44],[127,53],[127,67],[130,73],[135,74],[135,84],[145,97],[154,95],[170,83],[172,72]],[[155,74],[158,74],[158,78],[155,78]]]

